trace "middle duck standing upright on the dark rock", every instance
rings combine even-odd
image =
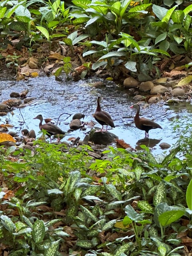
[[[96,112],[94,113],[94,118],[95,120],[102,125],[102,128],[100,131],[98,132],[102,132],[103,130],[103,126],[106,125],[106,132],[107,132],[107,126],[110,125],[111,127],[115,128],[114,122],[112,120],[112,118],[110,117],[110,115],[106,112],[106,111],[102,111],[101,107],[100,107],[100,101],[101,101],[101,97],[99,96],[97,98],[97,108],[96,108]]]

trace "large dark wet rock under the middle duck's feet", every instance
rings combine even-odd
[[[114,142],[116,138],[118,137],[111,132],[96,132],[95,129],[92,129],[89,134],[89,141],[99,145],[108,145]]]

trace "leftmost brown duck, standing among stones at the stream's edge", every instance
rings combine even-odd
[[[40,128],[40,130],[44,129],[48,132],[47,136],[50,138],[50,143],[51,143],[51,136],[52,135],[65,134],[64,131],[62,131],[58,126],[56,126],[55,124],[52,124],[51,122],[48,122],[46,124],[42,124],[42,122],[43,122],[42,115],[38,115],[38,116],[34,117],[33,119],[39,119],[40,120],[39,128]],[[58,136],[58,141],[59,140],[60,140],[60,138]]]

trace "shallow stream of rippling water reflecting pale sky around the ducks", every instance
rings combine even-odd
[[[6,116],[0,117],[0,124],[6,120],[14,127],[10,130],[18,132],[21,136],[21,130],[28,128],[34,129],[38,135],[39,120],[33,120],[38,114],[42,114],[43,118],[52,118],[57,122],[62,130],[69,129],[69,123],[75,113],[81,112],[85,114],[84,121],[96,122],[92,114],[96,110],[96,98],[102,96],[101,108],[107,111],[113,118],[116,128],[109,130],[116,134],[119,139],[123,139],[132,147],[136,147],[136,142],[144,138],[145,132],[138,130],[134,124],[135,109],[130,109],[130,106],[137,103],[133,100],[133,96],[129,96],[129,91],[124,90],[121,85],[114,82],[106,81],[106,87],[93,88],[90,83],[101,81],[99,78],[74,81],[56,81],[54,76],[39,76],[28,80],[14,81],[1,79],[0,87],[0,102],[10,98],[11,92],[21,92],[28,89],[27,97],[36,97],[36,100],[29,102],[24,108],[14,108],[13,113],[8,113]],[[174,145],[177,138],[172,132],[173,120],[179,118],[185,120],[185,116],[192,115],[190,102],[180,102],[164,104],[158,102],[151,104],[147,108],[140,110],[140,116],[149,118],[160,124],[163,129],[154,129],[149,131],[149,138],[159,140],[158,144],[152,148],[153,154],[164,152],[159,146],[161,142],[167,142]],[[96,124],[101,127],[100,124]],[[82,140],[90,128],[86,131],[76,130],[70,132],[68,137],[80,136]],[[150,145],[151,146],[151,145]]]

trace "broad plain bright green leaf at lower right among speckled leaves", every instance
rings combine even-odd
[[[172,211],[167,211],[160,214],[160,216],[158,217],[158,220],[162,226],[168,226],[169,224],[181,218],[183,215],[184,215],[184,211],[172,210]]]

